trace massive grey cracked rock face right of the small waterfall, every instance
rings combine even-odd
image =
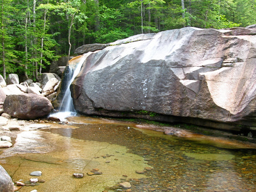
[[[83,114],[150,111],[253,125],[256,29],[187,27],[123,39],[86,55],[71,84]],[[129,115],[128,115],[129,116]]]

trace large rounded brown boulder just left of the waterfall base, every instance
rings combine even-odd
[[[36,119],[49,115],[53,109],[51,102],[32,93],[8,95],[4,101],[4,113],[19,119]]]

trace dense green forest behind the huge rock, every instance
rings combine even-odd
[[[256,0],[2,0],[0,74],[37,81],[84,44],[182,27],[256,23]]]

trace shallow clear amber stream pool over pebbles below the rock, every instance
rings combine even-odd
[[[44,182],[20,192],[256,191],[255,149],[221,148],[107,118],[47,125],[20,133],[0,155],[13,181],[42,171],[37,178]],[[119,186],[125,181],[130,189]]]

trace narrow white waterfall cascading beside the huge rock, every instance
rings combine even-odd
[[[70,92],[70,85],[78,75],[78,73],[81,70],[81,67],[85,61],[85,59],[91,54],[91,52],[83,54],[78,56],[77,58],[73,59],[73,63],[76,64],[71,64],[69,62],[68,66],[68,76],[67,76],[67,86],[66,90],[64,93],[64,96],[62,98],[60,107],[59,107],[59,112],[55,114],[51,114],[50,116],[57,117],[60,119],[60,121],[65,121],[65,118],[70,117],[70,116],[75,116],[76,115],[76,110],[73,105],[73,98],[71,97],[71,92]],[[71,61],[71,60],[70,60]],[[74,67],[75,66],[75,67]]]

